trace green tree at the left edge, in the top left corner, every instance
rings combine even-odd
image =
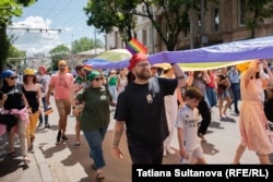
[[[8,58],[11,39],[7,36],[7,26],[12,22],[12,16],[20,16],[23,7],[33,4],[36,0],[1,0],[0,1],[0,72]]]

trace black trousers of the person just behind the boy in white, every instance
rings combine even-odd
[[[206,101],[204,100],[204,97],[199,102],[198,109],[199,109],[199,113],[202,117],[202,121],[201,121],[201,124],[199,126],[198,133],[202,133],[204,135],[206,133],[207,128],[209,128],[211,120],[212,120],[212,113],[211,113],[211,110],[210,110]]]

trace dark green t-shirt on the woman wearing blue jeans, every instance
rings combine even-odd
[[[108,126],[110,121],[110,100],[105,86],[83,89],[76,94],[76,99],[85,102],[80,119],[82,131],[94,131]]]

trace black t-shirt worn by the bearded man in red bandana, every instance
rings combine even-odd
[[[144,85],[132,82],[120,93],[115,119],[126,121],[129,145],[158,145],[168,136],[164,96],[176,87],[175,78],[152,77]]]

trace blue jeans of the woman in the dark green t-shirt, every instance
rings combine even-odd
[[[105,166],[103,141],[106,132],[107,128],[100,128],[94,131],[83,131],[83,134],[90,145],[90,157],[93,158],[97,169]]]

